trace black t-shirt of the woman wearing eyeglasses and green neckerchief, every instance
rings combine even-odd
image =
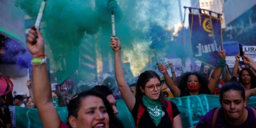
[[[135,106],[131,111],[135,125],[137,122],[138,108],[141,102],[142,100],[136,98]],[[180,114],[180,111],[178,110],[178,107],[176,106],[176,104],[172,101],[171,101],[171,107],[173,112],[173,118],[175,118],[178,114]],[[158,126],[156,126],[155,123],[150,118],[149,112],[147,111],[147,109],[145,109],[143,115],[140,118],[140,122],[138,123],[138,126],[139,128],[172,128],[171,121],[166,110],[164,110],[164,116],[161,118],[160,123],[158,124]]]

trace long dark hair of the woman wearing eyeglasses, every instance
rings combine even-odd
[[[144,95],[144,93],[140,90],[140,86],[142,88],[145,88],[145,85],[146,83],[151,79],[151,78],[157,78],[159,81],[160,81],[160,78],[158,76],[158,74],[154,71],[151,71],[151,70],[147,70],[143,73],[140,74],[139,78],[138,78],[138,81],[137,81],[137,84],[136,84],[136,93],[135,93],[135,97],[138,97],[139,99],[142,100],[142,97]],[[160,81],[161,83],[161,81]],[[158,99],[162,108],[163,109],[166,109],[167,108],[167,103],[164,99],[164,96],[162,95],[162,90],[160,92],[160,95],[158,97]]]

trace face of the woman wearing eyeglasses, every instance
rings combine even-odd
[[[142,90],[145,95],[152,100],[157,100],[160,93],[161,88],[159,87],[161,85],[160,81],[157,78],[151,78],[145,85],[144,89]],[[158,87],[157,87],[158,86]],[[152,91],[150,91],[151,89]]]

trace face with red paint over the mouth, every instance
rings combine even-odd
[[[200,88],[200,83],[196,75],[190,75],[187,81],[187,88],[189,91],[198,91]]]

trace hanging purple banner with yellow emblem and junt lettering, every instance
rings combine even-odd
[[[190,43],[192,56],[215,67],[223,49],[220,18],[206,14],[189,14]]]

